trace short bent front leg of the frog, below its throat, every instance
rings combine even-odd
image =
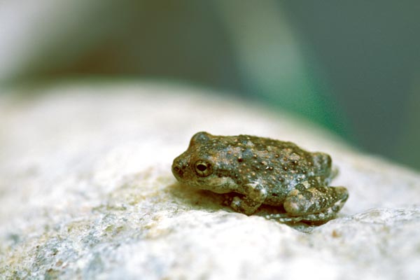
[[[247,183],[240,187],[240,193],[244,193],[244,197],[234,197],[230,207],[235,211],[246,215],[253,214],[267,197],[267,190],[258,183]]]

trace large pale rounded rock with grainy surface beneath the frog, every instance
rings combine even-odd
[[[194,89],[57,85],[0,97],[1,279],[418,279],[420,176],[289,116]],[[50,94],[57,93],[60,94]],[[176,183],[194,132],[332,155],[349,201],[293,228]]]

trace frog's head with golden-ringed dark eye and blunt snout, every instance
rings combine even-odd
[[[214,193],[229,193],[235,184],[228,176],[220,176],[221,166],[218,138],[207,132],[197,132],[187,151],[175,158],[172,173],[181,183],[211,190]]]

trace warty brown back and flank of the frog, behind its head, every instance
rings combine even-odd
[[[324,183],[330,173],[330,157],[311,153],[290,141],[280,141],[251,135],[222,137],[225,144],[241,147],[241,166],[246,170],[244,181],[260,181],[267,187],[267,204],[279,204],[299,183],[317,178]]]

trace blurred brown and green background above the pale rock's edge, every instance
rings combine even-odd
[[[1,0],[0,87],[186,83],[420,170],[418,1]]]

